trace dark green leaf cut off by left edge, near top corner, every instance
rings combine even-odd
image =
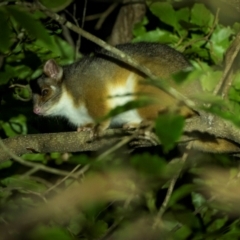
[[[0,52],[6,53],[12,44],[11,30],[8,24],[8,15],[0,9]]]

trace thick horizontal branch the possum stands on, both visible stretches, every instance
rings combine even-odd
[[[210,114],[189,119],[180,143],[193,141],[193,149],[212,153],[239,153],[240,129],[231,122]],[[122,139],[121,129],[109,129],[106,135],[94,141],[86,132],[62,132],[49,134],[30,134],[4,139],[9,151],[16,155],[29,152],[84,152],[96,151],[114,145]],[[126,134],[125,134],[126,135]],[[0,151],[0,162],[9,159],[9,154]]]

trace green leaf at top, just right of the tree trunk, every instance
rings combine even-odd
[[[155,2],[150,5],[149,9],[162,22],[174,27],[175,30],[180,27],[176,12],[170,3]]]

